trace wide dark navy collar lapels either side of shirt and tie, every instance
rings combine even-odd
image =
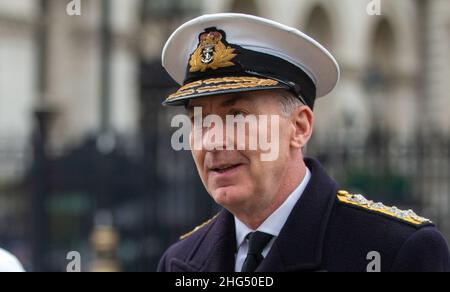
[[[305,159],[311,180],[258,272],[318,271],[338,186],[314,159]],[[233,215],[222,210],[178,268],[186,272],[233,272],[236,234]]]

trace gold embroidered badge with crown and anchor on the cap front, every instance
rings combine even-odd
[[[208,69],[231,67],[236,57],[235,49],[225,45],[225,34],[221,31],[207,31],[200,35],[200,43],[189,61],[191,73]],[[223,41],[222,41],[223,40]]]

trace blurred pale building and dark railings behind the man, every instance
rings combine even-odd
[[[0,0],[0,246],[28,271],[154,271],[214,215],[188,152],[170,146],[169,35],[204,13],[297,27],[336,56],[308,155],[343,188],[414,208],[450,239],[450,2]]]

